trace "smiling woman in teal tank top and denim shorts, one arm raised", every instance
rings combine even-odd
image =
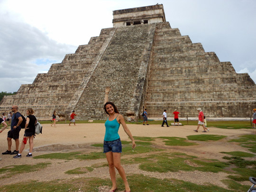
[[[133,149],[136,147],[136,144],[130,130],[128,129],[125,123],[124,117],[121,114],[119,114],[119,111],[114,103],[108,102],[109,92],[110,88],[107,87],[105,90],[104,110],[108,115],[108,119],[105,122],[106,132],[104,137],[103,153],[106,154],[107,161],[109,164],[110,178],[112,181],[112,188],[110,189],[110,192],[115,192],[117,190],[115,168],[118,170],[118,173],[124,181],[125,192],[131,192],[129,184],[127,182],[124,168],[121,165],[122,144],[118,134],[120,124],[122,124],[124,131],[130,137]]]

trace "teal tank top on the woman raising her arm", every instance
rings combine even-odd
[[[104,137],[105,141],[113,141],[120,138],[118,134],[120,124],[117,121],[117,117],[112,121],[110,121],[109,118],[106,120],[105,122],[106,132]]]

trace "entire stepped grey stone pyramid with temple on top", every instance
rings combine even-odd
[[[88,45],[37,74],[17,95],[5,96],[0,111],[13,104],[25,113],[36,110],[38,119],[50,119],[53,110],[78,119],[106,119],[104,90],[128,120],[137,120],[143,107],[149,118],[164,109],[182,117],[250,117],[256,107],[256,84],[247,73],[236,73],[230,62],[220,62],[201,43],[181,36],[165,21],[163,5],[113,11],[113,27],[91,37]]]

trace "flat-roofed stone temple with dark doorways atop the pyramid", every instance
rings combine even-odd
[[[113,11],[113,27],[165,22],[162,4]]]

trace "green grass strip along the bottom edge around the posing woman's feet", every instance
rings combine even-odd
[[[133,192],[233,192],[233,190],[224,189],[210,183],[200,185],[176,179],[158,179],[143,174],[128,175],[128,182]],[[230,189],[236,189],[236,192],[245,192],[250,187],[232,182],[231,180],[225,180],[224,182],[230,186]],[[119,176],[117,177],[117,183],[119,191],[124,191],[124,184]],[[50,182],[32,181],[4,185],[0,187],[0,191],[14,192],[22,189],[26,192],[99,192],[100,186],[109,186],[110,189],[110,179],[78,178]]]

